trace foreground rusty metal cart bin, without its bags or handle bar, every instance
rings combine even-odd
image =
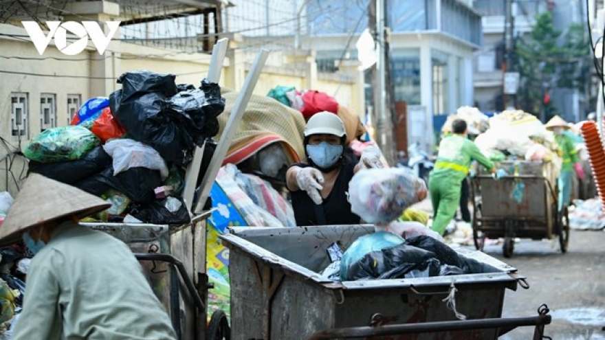
[[[329,264],[329,245],[340,241],[346,248],[373,232],[369,225],[231,228],[221,239],[230,249],[232,339],[301,340],[318,330],[376,322],[456,321],[443,301],[448,296],[467,319],[499,318],[506,288],[516,290],[518,282],[526,286],[516,269],[467,249],[459,253],[496,272],[352,282],[320,276]],[[456,339],[496,339],[498,330],[452,334],[459,336]],[[427,333],[414,339],[452,338]]]

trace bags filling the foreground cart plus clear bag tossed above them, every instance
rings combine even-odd
[[[410,206],[426,197],[425,183],[402,168],[360,170],[349,186],[351,211],[375,225],[346,250],[331,245],[329,280],[381,280],[489,273],[495,269],[459,256],[443,238],[417,220],[428,216]]]

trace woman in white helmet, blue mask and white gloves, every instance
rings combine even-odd
[[[292,193],[296,225],[358,224],[347,200],[349,181],[362,166],[382,168],[380,151],[369,147],[357,161],[345,148],[347,133],[338,115],[322,111],[305,126],[307,163],[296,163],[286,173]]]

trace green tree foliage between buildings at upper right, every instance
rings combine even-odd
[[[573,23],[562,36],[555,29],[550,12],[538,14],[529,36],[518,38],[515,44],[515,61],[521,78],[517,98],[520,108],[539,115],[544,95],[551,87],[584,92],[589,45],[584,25]],[[548,104],[545,106],[547,111],[554,110]]]

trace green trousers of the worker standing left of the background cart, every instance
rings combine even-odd
[[[433,209],[431,229],[443,235],[445,227],[454,218],[460,204],[461,184],[459,177],[439,176],[430,177],[428,191]]]

